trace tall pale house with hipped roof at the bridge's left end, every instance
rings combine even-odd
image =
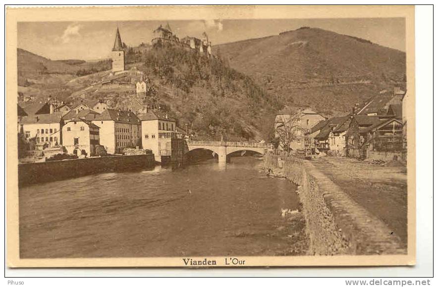
[[[177,132],[176,120],[159,111],[147,111],[141,119],[142,146],[150,149],[157,162],[182,156],[183,135]]]

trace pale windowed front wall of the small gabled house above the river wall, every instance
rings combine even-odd
[[[81,130],[81,127],[83,127],[84,130]],[[70,128],[70,130],[68,130],[68,128]],[[74,144],[75,138],[78,138],[78,145],[76,146]],[[84,150],[87,153],[87,156],[91,156],[90,128],[88,124],[83,121],[67,122],[62,127],[62,145],[69,154],[73,154],[73,151],[78,148],[81,151]]]

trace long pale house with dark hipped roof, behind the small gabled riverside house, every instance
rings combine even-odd
[[[102,114],[89,113],[85,118],[100,127],[100,144],[107,153],[141,147],[141,122],[133,112],[106,109]]]

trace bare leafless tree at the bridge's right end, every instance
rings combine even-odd
[[[290,143],[298,139],[298,131],[301,129],[299,120],[300,113],[298,110],[275,117],[275,138],[278,140],[279,147],[286,152],[290,151]]]

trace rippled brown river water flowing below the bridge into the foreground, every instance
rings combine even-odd
[[[263,159],[101,173],[20,188],[20,256],[300,255],[295,187]]]

